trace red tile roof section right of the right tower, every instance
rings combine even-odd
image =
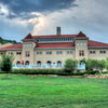
[[[107,43],[89,40],[89,48],[108,48]]]

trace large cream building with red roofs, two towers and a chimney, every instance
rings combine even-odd
[[[2,54],[13,55],[16,65],[32,65],[37,67],[62,67],[67,58],[106,59],[108,44],[90,40],[82,31],[78,35],[31,36],[27,35],[23,43],[0,49]]]

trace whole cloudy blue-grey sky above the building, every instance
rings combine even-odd
[[[83,31],[108,43],[108,0],[0,0],[0,37],[21,41],[29,32],[63,35]]]

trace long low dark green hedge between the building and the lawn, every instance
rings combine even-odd
[[[0,71],[0,73],[6,73]],[[84,76],[84,75],[96,75],[97,71],[76,71],[66,72],[64,69],[13,69],[10,73],[22,73],[22,75],[57,75],[57,76]]]

